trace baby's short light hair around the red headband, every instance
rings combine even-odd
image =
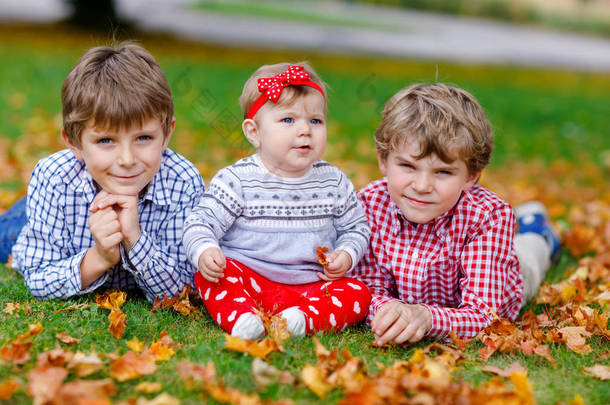
[[[258,91],[258,79],[261,78],[271,78],[280,73],[286,72],[286,70],[290,66],[302,66],[307,73],[309,73],[309,80],[320,86],[320,88],[324,91],[324,113],[327,112],[326,105],[326,84],[322,81],[320,76],[313,70],[311,65],[307,62],[297,62],[297,63],[276,63],[275,65],[263,65],[256,72],[250,76],[246,83],[244,84],[244,88],[241,92],[241,96],[239,96],[239,106],[241,107],[241,111],[244,115],[244,119],[248,118],[248,111],[250,111],[250,107],[252,104],[260,97],[261,92]],[[291,105],[294,103],[297,98],[303,97],[311,92],[318,93],[318,90],[309,86],[288,86],[282,90],[282,95],[280,96],[277,103],[278,106]],[[254,116],[256,119],[256,115]]]

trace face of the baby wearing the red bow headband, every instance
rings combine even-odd
[[[303,176],[326,149],[324,97],[311,92],[291,105],[267,102],[256,113],[256,122],[245,120],[242,128],[270,172]]]

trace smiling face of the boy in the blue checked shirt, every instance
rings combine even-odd
[[[173,131],[175,121],[172,121]],[[161,167],[161,154],[167,148],[170,134],[165,136],[161,121],[149,119],[141,128],[119,132],[102,131],[87,126],[80,146],[64,141],[78,160],[87,165],[95,182],[111,194],[138,195]]]

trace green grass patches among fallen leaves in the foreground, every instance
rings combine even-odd
[[[176,355],[169,361],[157,363],[159,368],[154,374],[117,383],[118,395],[115,399],[142,396],[135,391],[135,386],[139,382],[158,381],[162,383],[163,391],[181,399],[182,403],[196,403],[200,398],[199,392],[187,390],[176,372],[176,365],[183,359],[200,364],[213,361],[218,375],[222,376],[227,386],[238,388],[242,392],[257,392],[250,372],[252,358],[224,350],[221,330],[207,315],[203,319],[194,319],[168,310],[153,314],[149,303],[134,295],[122,307],[127,315],[127,328],[125,335],[117,341],[107,331],[108,311],[97,307],[93,295],[68,301],[38,301],[28,294],[22,278],[17,273],[0,265],[0,308],[3,309],[9,302],[28,302],[31,306],[31,314],[8,315],[0,312],[2,325],[0,343],[27,331],[30,323],[41,322],[44,330],[32,339],[34,346],[30,352],[34,358],[22,367],[0,367],[0,381],[11,375],[27,381],[27,372],[33,367],[35,356],[59,345],[55,338],[55,334],[59,332],[67,332],[82,339],[71,347],[61,344],[73,352],[80,350],[89,353],[95,350],[101,354],[115,352],[118,349],[119,354],[123,354],[129,350],[125,342],[134,336],[150,344],[159,338],[162,331],[166,331],[183,346],[177,349]],[[59,314],[55,312],[68,305],[82,302],[89,302],[91,306],[80,311]],[[373,374],[379,370],[377,363],[390,365],[396,360],[407,360],[416,348],[430,343],[424,341],[417,345],[380,350],[372,345],[372,334],[364,326],[347,329],[336,335],[321,335],[319,338],[327,348],[349,349],[354,356],[363,361],[365,369]],[[491,377],[490,374],[481,372],[482,366],[490,364],[505,368],[518,361],[528,369],[528,379],[534,386],[535,397],[539,404],[571,400],[577,394],[581,395],[588,405],[605,404],[610,398],[610,387],[607,383],[585,376],[581,368],[599,363],[597,354],[607,351],[607,343],[599,338],[591,338],[589,343],[594,347],[594,352],[584,356],[569,351],[564,345],[553,345],[551,353],[557,360],[555,366],[540,357],[522,354],[495,354],[487,362],[482,362],[478,357],[478,350],[482,345],[473,344],[467,348],[465,352],[467,359],[454,372],[454,378],[463,378],[477,386]],[[289,371],[298,380],[300,370],[306,364],[316,363],[313,342],[309,338],[294,339],[288,342],[285,348],[286,353],[273,353],[268,362],[281,370]],[[108,366],[89,378],[105,378],[107,373]],[[333,403],[343,396],[340,391],[333,391],[329,398],[321,400],[300,381],[297,382],[296,388],[292,385],[273,384],[258,393],[263,398],[274,400],[291,398],[302,404]],[[29,397],[23,391],[19,391],[13,397],[15,404],[29,403],[29,401]],[[214,402],[210,401],[210,403]]]

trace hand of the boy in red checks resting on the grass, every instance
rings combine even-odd
[[[432,315],[423,305],[392,301],[379,308],[371,322],[375,343],[401,344],[420,341],[432,327]]]

